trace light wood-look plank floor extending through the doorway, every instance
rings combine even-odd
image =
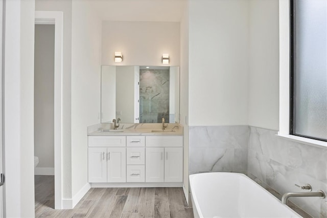
[[[35,217],[193,218],[182,188],[91,188],[74,209],[54,206],[54,177],[35,176]]]

